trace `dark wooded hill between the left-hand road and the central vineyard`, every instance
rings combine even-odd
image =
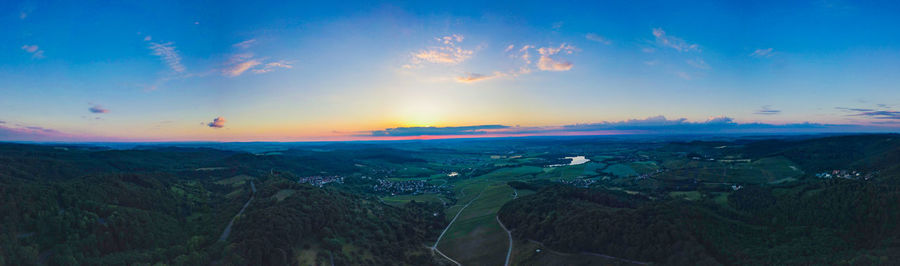
[[[437,203],[398,208],[377,198],[272,181],[235,224],[226,254],[239,256],[226,258],[249,265],[434,265],[423,243],[444,225]]]

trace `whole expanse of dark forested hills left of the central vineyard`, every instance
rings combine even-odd
[[[353,167],[314,157],[0,143],[0,265],[433,264],[442,206],[285,178]]]

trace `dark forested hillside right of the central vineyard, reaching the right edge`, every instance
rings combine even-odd
[[[515,237],[552,249],[667,265],[900,261],[898,135],[673,143],[665,149],[710,158],[783,157],[805,174],[786,182],[735,181],[727,189],[646,195],[603,185],[515,183],[538,192],[505,204],[499,218]],[[872,177],[816,175],[838,169]],[[685,200],[675,193],[697,196]]]

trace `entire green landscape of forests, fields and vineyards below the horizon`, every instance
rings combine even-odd
[[[898,135],[189,146],[0,143],[0,265],[900,261]]]

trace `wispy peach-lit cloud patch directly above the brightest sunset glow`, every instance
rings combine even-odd
[[[410,64],[404,67],[412,68],[423,63],[433,64],[459,64],[472,57],[472,50],[466,50],[459,46],[465,38],[459,34],[435,38],[442,45],[429,47],[410,54]]]

